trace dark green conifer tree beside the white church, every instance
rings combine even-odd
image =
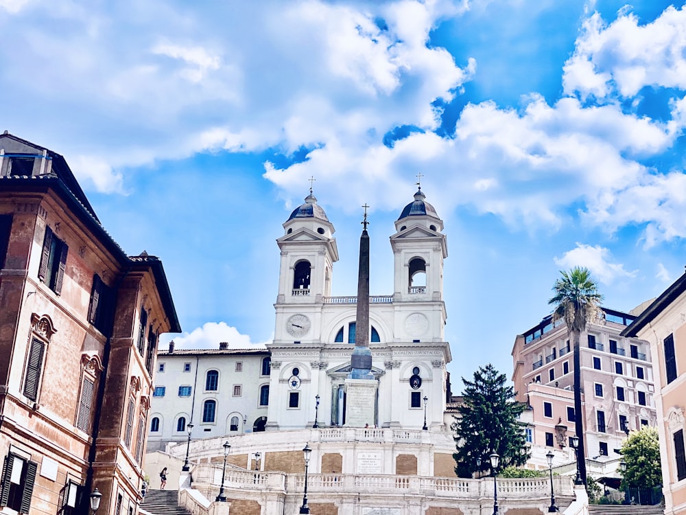
[[[518,420],[524,406],[514,400],[514,389],[505,385],[505,374],[489,363],[475,371],[473,381],[462,381],[464,403],[452,425],[458,477],[488,470],[488,456],[494,451],[500,455],[501,468],[525,464],[529,455],[524,426]]]

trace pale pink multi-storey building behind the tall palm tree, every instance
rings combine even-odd
[[[589,472],[613,475],[615,452],[630,431],[656,424],[654,385],[648,342],[623,336],[635,315],[602,309],[581,334],[581,380],[585,450]],[[574,434],[573,349],[564,321],[547,316],[517,336],[512,348],[512,381],[517,400],[531,407],[527,436],[536,468],[547,468],[545,453],[555,463],[573,461],[569,437]]]

